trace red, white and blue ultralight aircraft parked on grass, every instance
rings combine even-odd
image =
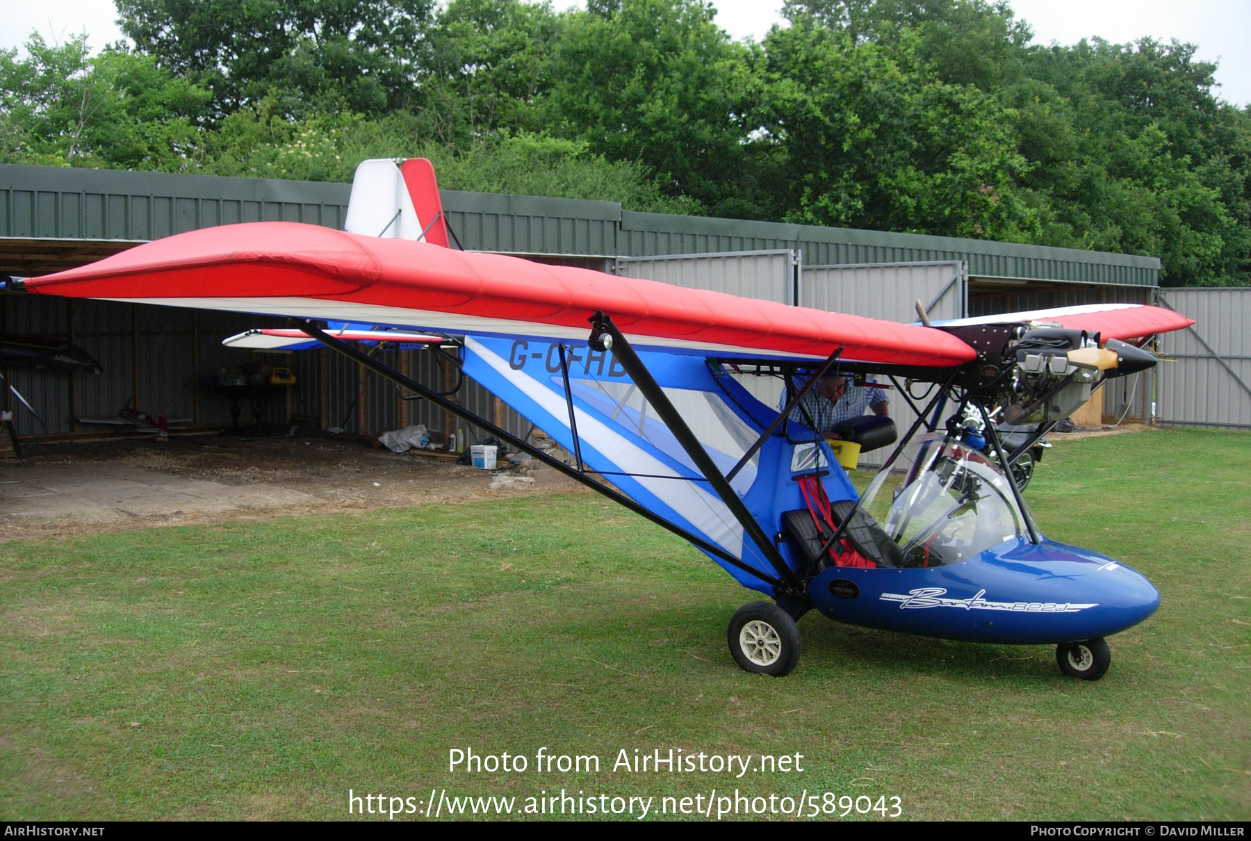
[[[229,342],[324,344],[689,541],[769,599],[729,622],[749,672],[791,672],[796,622],[816,608],[947,640],[1053,643],[1065,673],[1097,680],[1105,638],[1160,603],[1133,569],[1046,538],[1008,467],[1103,380],[1153,365],[1143,345],[1193,324],[1183,315],[1102,304],[898,324],[457,250],[424,159],[363,163],[345,228],[194,230],[24,288],[299,319]],[[337,337],[329,322],[374,335]],[[453,342],[463,373],[573,463],[345,339]],[[864,451],[894,444],[863,496],[826,431],[803,422],[829,372],[876,375],[916,418],[902,436],[871,415],[838,431]],[[754,395],[764,380],[781,383],[781,405]],[[1000,422],[1033,433],[1007,452]]]

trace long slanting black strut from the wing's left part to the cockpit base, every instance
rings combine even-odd
[[[688,543],[691,543],[696,548],[703,549],[708,554],[712,554],[712,556],[716,556],[716,557],[721,558],[722,561],[724,561],[726,563],[731,564],[732,567],[737,567],[737,568],[742,569],[743,572],[747,572],[747,573],[751,573],[752,576],[756,576],[757,578],[759,578],[761,581],[768,583],[772,587],[781,587],[783,584],[783,582],[782,582],[781,578],[774,578],[773,576],[769,576],[769,574],[762,572],[761,569],[751,566],[749,563],[744,563],[743,561],[739,561],[738,558],[736,558],[731,553],[726,552],[719,546],[709,543],[708,541],[703,539],[698,534],[692,534],[691,532],[688,532],[687,529],[682,528],[681,526],[671,523],[669,521],[664,519],[659,514],[656,514],[656,513],[648,511],[647,508],[644,508],[643,506],[638,504],[637,502],[634,502],[633,499],[631,499],[626,494],[623,494],[623,493],[620,493],[618,491],[614,491],[613,488],[610,488],[610,487],[608,487],[605,484],[602,484],[600,482],[597,482],[595,479],[590,478],[589,476],[587,476],[582,471],[575,471],[574,468],[569,467],[568,464],[565,464],[560,459],[553,457],[550,453],[547,453],[547,452],[539,449],[538,447],[535,447],[534,444],[529,443],[528,441],[525,441],[523,438],[518,438],[517,436],[514,436],[513,433],[508,432],[507,429],[504,429],[502,427],[497,427],[494,423],[492,423],[490,421],[487,421],[485,418],[478,417],[477,414],[474,414],[473,412],[470,412],[465,407],[459,405],[457,403],[453,403],[447,397],[439,394],[438,392],[435,392],[435,390],[433,390],[430,388],[427,388],[425,385],[423,385],[422,383],[417,382],[415,379],[410,379],[409,377],[405,377],[404,374],[399,373],[394,368],[390,368],[390,367],[383,364],[382,362],[379,362],[378,359],[374,359],[373,357],[362,353],[360,350],[358,350],[357,348],[352,347],[350,344],[340,342],[339,339],[334,338],[333,335],[328,334],[325,330],[323,330],[322,328],[319,328],[313,322],[308,322],[308,320],[304,322],[304,330],[310,337],[313,337],[314,339],[317,339],[322,344],[324,344],[325,347],[330,348],[332,350],[334,350],[337,353],[342,353],[343,355],[348,357],[353,362],[355,362],[355,363],[358,363],[360,365],[364,365],[369,370],[374,372],[379,377],[382,377],[384,379],[389,379],[390,382],[395,383],[397,385],[402,385],[403,388],[407,388],[408,390],[414,392],[418,395],[425,398],[427,400],[429,400],[430,403],[433,403],[435,407],[443,409],[444,412],[454,414],[454,415],[457,415],[458,418],[460,418],[463,421],[468,421],[469,423],[472,423],[473,426],[478,427],[479,429],[482,429],[484,432],[488,432],[492,436],[495,436],[495,438],[499,438],[500,441],[507,442],[508,444],[515,447],[517,449],[519,449],[519,451],[522,451],[524,453],[528,453],[529,456],[533,456],[534,458],[537,458],[538,461],[543,462],[548,467],[558,471],[559,473],[563,473],[564,476],[568,476],[574,482],[579,482],[580,484],[587,486],[592,491],[595,491],[595,492],[598,492],[598,493],[608,497],[609,499],[612,499],[613,502],[618,503],[619,506],[629,508],[636,514],[638,514],[641,517],[644,517],[646,519],[652,521],[653,523],[656,523],[661,528],[664,528],[664,529],[667,529],[669,532],[673,532],[674,534],[677,534],[682,539],[687,541]]]

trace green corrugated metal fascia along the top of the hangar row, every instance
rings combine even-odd
[[[0,165],[0,238],[146,240],[234,222],[342,228],[349,186],[319,181]],[[965,260],[972,277],[1158,285],[1153,257],[977,239],[623,212],[615,201],[444,190],[465,248],[646,257],[792,248],[808,265]]]

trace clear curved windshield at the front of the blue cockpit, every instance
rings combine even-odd
[[[898,543],[904,567],[958,563],[1025,533],[1003,476],[942,434],[909,442],[878,472],[862,507]]]

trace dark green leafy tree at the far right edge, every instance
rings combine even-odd
[[[1213,65],[1151,39],[1035,49],[1016,106],[1023,179],[1057,245],[1153,254],[1172,285],[1251,283],[1251,119],[1212,96]]]

